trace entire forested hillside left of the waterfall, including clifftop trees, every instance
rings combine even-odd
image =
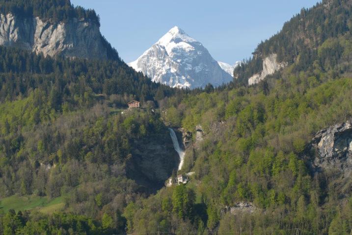
[[[98,21],[94,11],[66,0],[4,1],[1,12]],[[143,166],[132,153],[145,140],[163,145],[162,158],[177,160],[160,114],[151,111],[175,90],[135,72],[106,44],[108,60],[0,47],[0,234],[121,233],[126,203],[155,192],[177,166],[168,159],[133,174]],[[134,99],[143,109],[126,111]],[[52,206],[8,211],[1,202],[12,197]]]

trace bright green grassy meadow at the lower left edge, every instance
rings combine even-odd
[[[63,209],[65,204],[61,197],[48,200],[47,197],[13,195],[0,199],[0,210],[10,209],[17,211],[37,210],[43,213],[53,213]]]

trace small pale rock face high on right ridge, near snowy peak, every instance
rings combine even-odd
[[[256,73],[248,79],[248,85],[253,85],[259,83],[266,76],[273,74],[276,71],[287,66],[287,63],[278,63],[277,54],[271,54],[263,60],[263,71],[261,73]]]

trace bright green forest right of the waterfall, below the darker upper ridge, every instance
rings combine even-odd
[[[187,188],[128,206],[131,232],[153,234],[160,225],[175,234],[334,234],[340,226],[351,233],[351,185],[336,190],[336,175],[314,176],[302,154],[317,131],[351,117],[352,80],[301,72],[269,82],[269,91],[241,87],[170,103],[167,120],[190,131],[202,124],[207,138],[188,150],[183,171],[195,175]],[[226,211],[243,201],[255,212]]]

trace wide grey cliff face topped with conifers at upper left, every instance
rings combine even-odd
[[[62,54],[68,57],[106,59],[99,25],[76,18],[51,24],[39,17],[23,18],[11,13],[0,15],[0,45],[20,47],[45,56]]]

